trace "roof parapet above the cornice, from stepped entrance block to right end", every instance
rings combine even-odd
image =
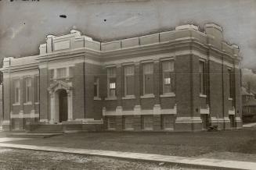
[[[143,45],[193,38],[210,48],[217,48],[219,51],[224,51],[230,55],[239,55],[239,48],[236,44],[227,44],[223,40],[222,27],[215,23],[207,23],[204,29],[205,31],[202,32],[197,25],[185,24],[175,27],[175,30],[106,42],[94,41],[92,37],[82,35],[81,31],[73,29],[70,30],[70,34],[66,35],[48,35],[46,44],[40,44],[39,49],[41,55],[76,48],[86,48],[94,51],[114,51],[122,48],[136,48]]]

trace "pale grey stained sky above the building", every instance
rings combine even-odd
[[[0,0],[0,58],[38,55],[46,35],[71,29],[112,41],[187,23],[222,26],[242,67],[256,69],[256,0]]]

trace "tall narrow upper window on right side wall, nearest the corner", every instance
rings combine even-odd
[[[206,73],[206,63],[203,61],[199,62],[199,88],[200,88],[200,94],[206,94],[206,84],[207,84],[207,73]]]

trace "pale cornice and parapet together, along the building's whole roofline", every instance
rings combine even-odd
[[[81,35],[80,31],[71,30],[70,34],[67,35],[59,37],[48,36],[46,44],[40,45],[41,54],[31,56],[33,61],[36,62],[27,63],[27,60],[31,57],[24,59],[10,58],[9,60],[7,58],[4,60],[4,62],[6,61],[6,65],[4,63],[4,68],[0,69],[0,71],[28,69],[34,66],[40,67],[42,63],[64,58],[84,57],[103,63],[123,58],[129,59],[146,55],[160,55],[168,52],[177,53],[178,51],[188,49],[197,49],[202,54],[211,54],[214,57],[223,58],[223,60],[231,63],[240,62],[242,59],[239,56],[238,46],[236,44],[230,45],[223,41],[222,27],[214,23],[206,25],[205,30],[207,34],[200,32],[198,27],[194,25],[185,25],[176,28],[167,32],[109,42],[93,41],[91,37]],[[207,29],[210,29],[210,31],[207,31]],[[212,32],[212,29],[215,29],[217,32]],[[59,46],[58,44],[58,49],[54,49],[54,43],[58,42],[63,42],[63,46]],[[66,46],[68,47],[66,48]],[[12,66],[12,62],[16,63],[15,66]]]

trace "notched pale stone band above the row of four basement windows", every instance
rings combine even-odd
[[[153,110],[142,110],[140,105],[135,105],[135,108],[130,111],[123,111],[121,106],[117,106],[115,111],[106,111],[103,107],[103,116],[106,115],[176,115],[177,106],[175,104],[174,108],[162,109],[160,104],[155,104]]]

